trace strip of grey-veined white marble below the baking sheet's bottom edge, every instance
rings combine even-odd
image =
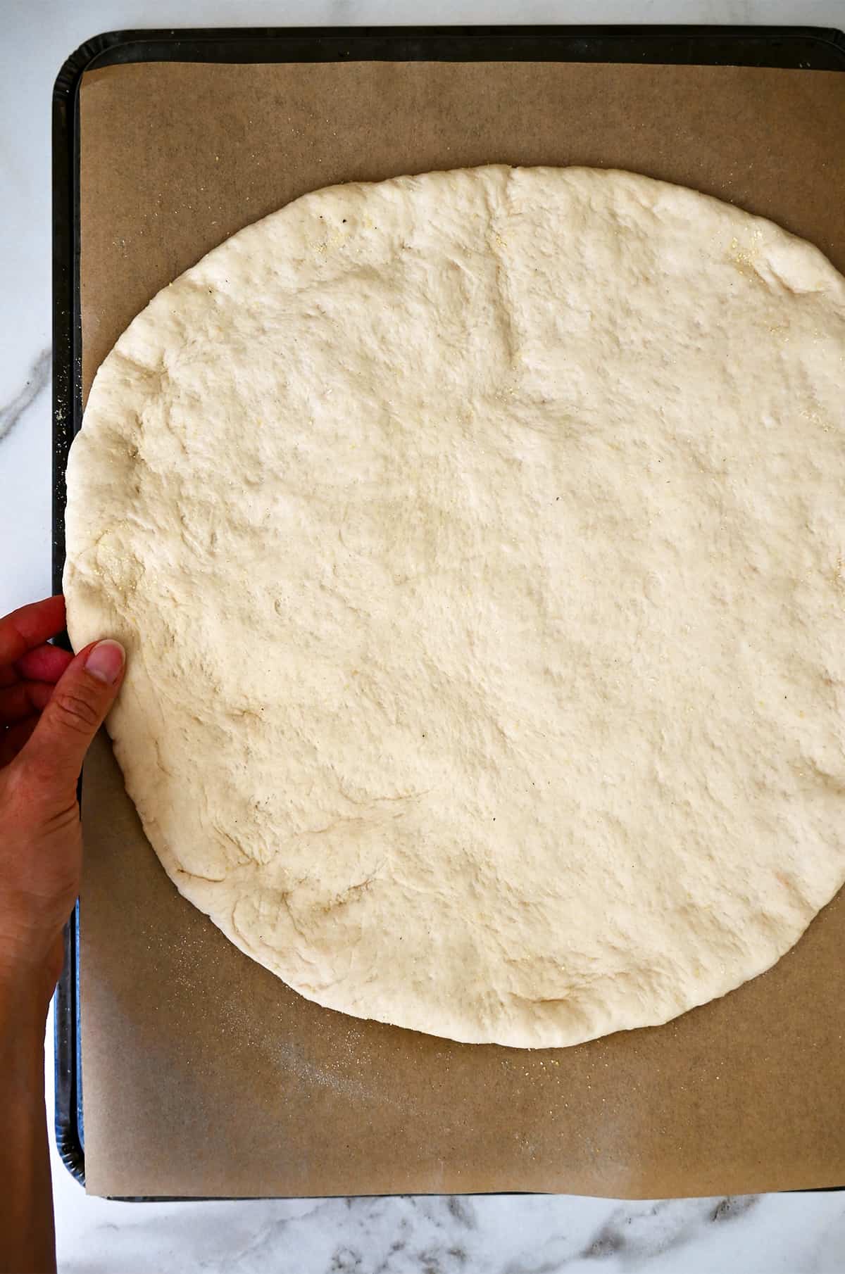
[[[809,1206],[807,1205],[809,1204]],[[117,1213],[133,1205],[111,1205]],[[161,1209],[171,1208],[170,1213]],[[837,1196],[614,1204],[553,1196],[149,1205],[94,1238],[65,1274],[841,1274]],[[803,1229],[799,1215],[809,1222]],[[143,1241],[143,1246],[141,1246]],[[96,1251],[98,1241],[92,1242]],[[175,1264],[178,1254],[180,1264]],[[171,1263],[173,1261],[173,1263]]]

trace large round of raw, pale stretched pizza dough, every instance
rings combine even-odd
[[[177,888],[302,995],[572,1045],[845,878],[845,282],[593,169],[321,190],[161,292],[68,465]],[[129,921],[131,922],[131,921]]]

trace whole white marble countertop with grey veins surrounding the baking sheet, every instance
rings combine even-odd
[[[845,0],[5,0],[0,5],[0,613],[50,591],[50,94],[99,31],[707,22],[845,27]],[[51,1060],[47,1094],[52,1101]],[[841,1274],[845,1194],[116,1204],[55,1157],[65,1274]]]

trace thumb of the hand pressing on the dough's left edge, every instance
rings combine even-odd
[[[56,682],[19,761],[38,766],[57,787],[75,786],[90,740],[115,702],[126,652],[119,641],[80,650]]]

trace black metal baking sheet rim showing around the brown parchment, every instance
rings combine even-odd
[[[52,578],[65,562],[65,465],[82,426],[78,90],[88,70],[140,61],[577,61],[845,71],[845,34],[812,27],[353,27],[108,32],[61,68],[52,97]],[[55,995],[56,1144],[84,1185],[79,906]]]

